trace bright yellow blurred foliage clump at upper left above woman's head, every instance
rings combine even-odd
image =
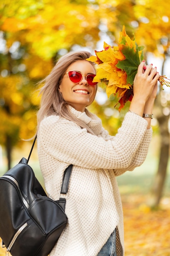
[[[7,2],[1,29],[12,33],[9,40],[13,33],[17,33],[14,37],[30,43],[32,51],[42,58],[49,59],[59,49],[69,49],[74,43],[88,45],[91,36],[94,36],[93,40],[99,39],[99,17],[90,5],[77,5],[69,0],[49,0],[42,5],[32,0],[31,3],[29,7],[22,0],[14,1],[13,9],[16,6],[18,9],[11,15],[11,4]],[[84,34],[91,36],[88,39]]]

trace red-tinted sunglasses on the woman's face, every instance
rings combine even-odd
[[[82,75],[80,72],[78,71],[68,71],[66,74],[68,74],[69,79],[71,80],[71,82],[73,83],[79,83],[80,81],[82,81],[82,78],[84,75]],[[95,77],[95,74],[88,74],[85,76],[86,81],[88,83],[88,85],[90,86],[95,86],[97,85],[98,82],[93,82],[93,78]]]

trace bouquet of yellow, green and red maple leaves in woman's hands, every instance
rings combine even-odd
[[[144,59],[143,49],[144,46],[138,46],[135,39],[130,39],[123,26],[118,46],[110,46],[104,42],[104,50],[95,51],[96,56],[87,59],[97,63],[97,74],[93,81],[106,84],[108,98],[111,94],[119,98],[119,111],[127,101],[132,100],[133,81],[138,66]],[[162,89],[164,84],[170,86],[170,81],[167,80],[166,76],[159,76]]]

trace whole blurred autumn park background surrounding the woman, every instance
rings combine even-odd
[[[38,82],[69,51],[116,45],[123,25],[144,45],[144,59],[170,79],[169,1],[0,0],[0,175],[28,157],[40,103]],[[98,89],[90,110],[115,135],[129,104]],[[170,88],[159,90],[153,138],[144,164],[117,178],[124,208],[126,256],[170,256]],[[36,146],[30,159],[43,184]],[[2,249],[4,255],[4,249]],[[0,249],[1,256],[1,249]]]

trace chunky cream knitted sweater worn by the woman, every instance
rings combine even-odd
[[[88,110],[71,111],[95,135],[55,115],[44,118],[38,130],[40,168],[53,200],[59,200],[64,170],[73,164],[65,210],[68,224],[50,256],[96,256],[116,227],[124,248],[123,212],[115,176],[144,162],[152,129],[147,130],[144,118],[128,112],[117,135],[110,136],[96,115]]]

